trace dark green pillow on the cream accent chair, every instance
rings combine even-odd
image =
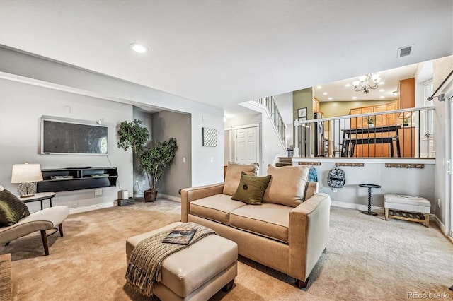
[[[10,191],[0,191],[0,227],[14,225],[25,216],[30,216],[27,205]]]

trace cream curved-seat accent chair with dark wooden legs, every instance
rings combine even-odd
[[[0,191],[3,190],[4,187],[0,185]],[[62,223],[68,215],[69,208],[65,206],[45,208],[44,210],[31,213],[30,216],[25,216],[25,218],[22,218],[14,225],[0,228],[0,244],[6,244],[8,246],[12,240],[40,231],[45,254],[49,255],[46,230],[56,228],[58,225],[59,235],[63,236]]]

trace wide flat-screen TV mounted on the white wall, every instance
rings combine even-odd
[[[107,155],[108,126],[96,122],[41,117],[41,153]]]

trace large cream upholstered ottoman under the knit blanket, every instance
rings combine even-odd
[[[126,240],[129,262],[134,247],[151,235],[182,223],[130,237]],[[237,275],[238,246],[219,235],[208,235],[162,261],[162,280],[154,295],[161,300],[208,300],[220,289],[229,290]]]

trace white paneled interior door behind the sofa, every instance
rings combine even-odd
[[[234,154],[237,163],[250,164],[259,162],[258,134],[258,126],[235,129]]]

